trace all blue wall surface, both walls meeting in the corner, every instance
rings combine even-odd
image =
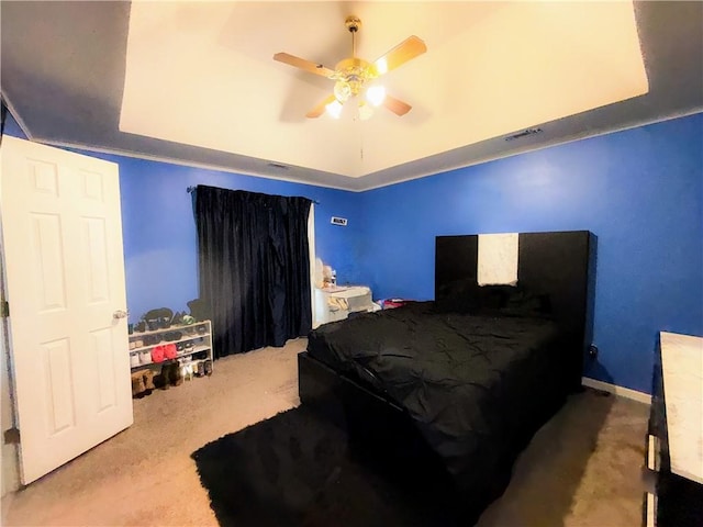
[[[11,119],[5,132],[23,135]],[[133,317],[198,295],[198,183],[320,201],[317,255],[376,299],[434,298],[436,235],[589,229],[601,354],[585,373],[649,392],[658,332],[703,335],[702,139],[696,114],[361,193],[86,154],[120,165]]]

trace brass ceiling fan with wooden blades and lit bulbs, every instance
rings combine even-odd
[[[359,94],[364,96],[359,99],[358,104],[358,115],[361,120],[371,115],[371,106],[380,105],[386,106],[397,115],[405,115],[412,106],[387,94],[382,86],[375,85],[372,81],[402,66],[411,58],[425,53],[427,51],[425,43],[414,35],[410,36],[373,63],[369,63],[356,56],[355,35],[361,27],[361,21],[354,15],[347,16],[345,25],[352,33],[352,57],[341,60],[335,66],[335,69],[325,68],[322,64],[315,64],[288,53],[274,55],[274,60],[335,81],[334,93],[308,112],[305,116],[319,117],[326,111],[333,117],[338,119],[342,114],[343,104]]]

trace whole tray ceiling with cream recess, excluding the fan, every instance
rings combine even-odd
[[[702,8],[2,1],[2,94],[35,141],[364,190],[701,111]],[[382,77],[405,116],[304,117],[333,82],[271,57],[334,68],[348,14],[368,60],[425,41]]]

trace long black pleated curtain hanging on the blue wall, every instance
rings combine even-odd
[[[308,335],[311,201],[202,184],[193,193],[215,358]]]

